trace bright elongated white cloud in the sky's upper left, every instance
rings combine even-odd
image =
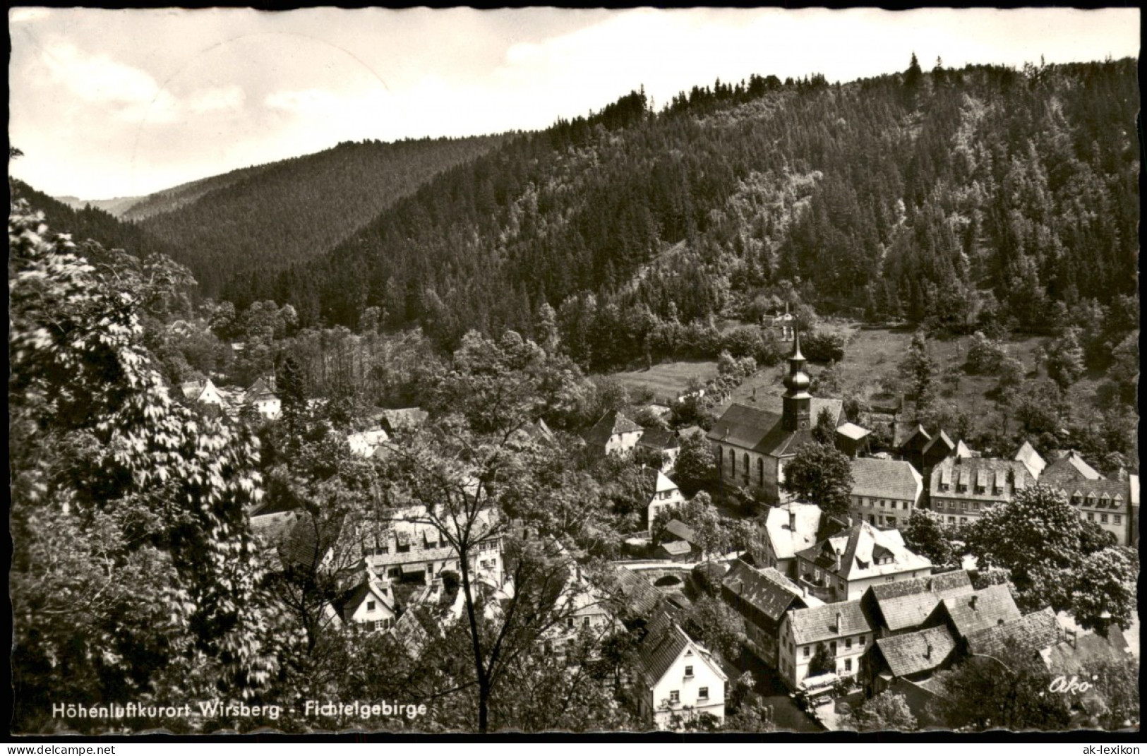
[[[107,55],[87,55],[71,44],[44,53],[44,63],[56,83],[84,102],[108,108],[122,120],[173,123],[179,103],[146,71]]]

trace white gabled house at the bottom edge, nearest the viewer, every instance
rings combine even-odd
[[[646,625],[638,646],[638,708],[658,730],[671,730],[673,717],[687,720],[708,714],[725,719],[727,677],[709,650],[690,639],[664,611]]]

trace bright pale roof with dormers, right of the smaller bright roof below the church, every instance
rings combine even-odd
[[[845,580],[859,580],[931,567],[931,562],[927,559],[908,551],[899,530],[876,530],[863,521],[848,530],[826,538],[811,548],[798,552],[797,555]],[[835,555],[840,555],[840,569],[835,567]],[[890,556],[891,561],[884,564],[876,563],[883,556]]]

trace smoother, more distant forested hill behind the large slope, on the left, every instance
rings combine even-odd
[[[204,293],[217,295],[235,275],[252,272],[260,286],[264,276],[329,249],[438,172],[502,139],[344,142],[161,193],[128,216],[150,212],[156,203],[177,204],[141,226],[177,249],[173,257],[195,273]],[[242,291],[232,297],[248,303]]]

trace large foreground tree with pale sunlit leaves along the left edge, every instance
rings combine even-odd
[[[135,293],[22,203],[8,242],[14,727],[60,726],[53,701],[255,700],[257,442],[172,399]]]

